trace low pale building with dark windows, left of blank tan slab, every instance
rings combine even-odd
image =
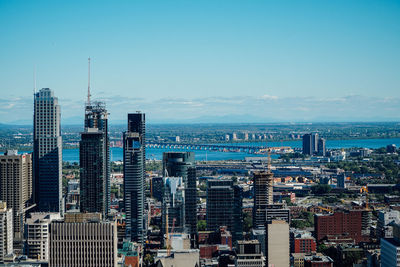
[[[242,240],[236,245],[235,267],[263,267],[264,258],[258,240]]]

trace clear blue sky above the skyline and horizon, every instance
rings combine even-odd
[[[111,121],[400,120],[399,1],[0,0],[0,122],[31,121],[36,66],[79,123],[89,56]]]

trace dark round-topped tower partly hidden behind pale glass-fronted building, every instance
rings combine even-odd
[[[185,228],[193,238],[197,232],[197,189],[194,152],[163,153],[163,176],[183,178],[185,191]]]

